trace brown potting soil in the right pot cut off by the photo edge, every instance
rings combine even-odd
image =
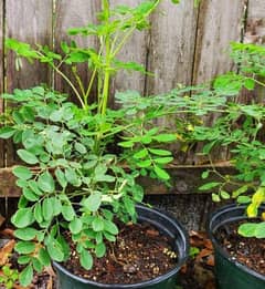
[[[218,229],[215,237],[234,260],[265,275],[265,241],[244,238],[237,234],[242,221],[230,223]]]

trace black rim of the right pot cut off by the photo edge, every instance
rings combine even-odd
[[[265,205],[262,205],[261,207],[265,209]],[[227,223],[227,221],[223,220],[223,221],[221,221],[219,225],[216,225],[215,227],[213,227],[213,221],[214,221],[214,219],[216,219],[216,218],[218,218],[219,216],[221,216],[222,214],[229,213],[229,211],[231,211],[231,210],[234,210],[234,209],[243,209],[243,210],[245,210],[245,208],[246,208],[245,205],[231,204],[231,205],[226,205],[226,206],[223,206],[223,207],[216,209],[215,211],[213,211],[213,213],[210,215],[210,217],[209,217],[209,219],[208,219],[208,223],[206,223],[206,231],[208,231],[208,235],[209,235],[209,237],[210,237],[210,239],[211,239],[211,241],[212,241],[212,244],[213,244],[214,249],[215,249],[215,250],[219,250],[219,251],[223,255],[223,257],[224,257],[225,259],[227,259],[230,262],[234,264],[234,266],[239,267],[239,268],[242,269],[244,272],[250,273],[250,275],[252,275],[252,276],[254,276],[254,277],[256,277],[256,278],[258,278],[258,279],[265,281],[265,275],[262,275],[262,273],[259,273],[259,272],[257,272],[257,271],[251,269],[250,267],[247,267],[247,266],[245,266],[245,265],[239,262],[237,259],[233,259],[233,258],[231,257],[231,255],[223,248],[223,246],[221,246],[221,245],[219,244],[219,241],[218,241],[216,238],[214,237],[214,231],[215,231],[219,227],[221,227],[222,225],[224,225],[224,224]],[[247,218],[246,215],[242,215],[242,216],[239,216],[239,217],[233,217],[233,218],[231,218],[231,220],[230,220],[229,223],[234,221],[234,220],[246,219],[246,218]]]

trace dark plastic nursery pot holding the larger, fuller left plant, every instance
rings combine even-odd
[[[189,254],[188,235],[182,226],[172,216],[158,209],[148,208],[145,206],[137,206],[138,220],[147,221],[153,225],[161,234],[168,236],[173,240],[172,246],[178,251],[178,264],[173,269],[167,273],[159,276],[155,279],[132,283],[132,285],[105,285],[95,281],[91,281],[81,277],[77,277],[65,268],[61,264],[53,262],[57,272],[59,288],[60,289],[94,289],[94,288],[146,288],[146,289],[172,289],[176,288],[177,275],[181,266],[186,262]]]

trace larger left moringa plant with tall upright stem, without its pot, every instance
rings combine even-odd
[[[166,165],[173,156],[165,145],[184,138],[190,115],[219,111],[226,101],[222,92],[199,86],[147,97],[132,91],[118,93],[120,109],[108,106],[110,78],[117,71],[147,73],[141,65],[117,56],[135,30],[149,28],[148,17],[160,2],[110,8],[108,0],[102,0],[97,24],[68,31],[70,35],[97,38],[97,50],[71,41],[61,43],[60,54],[46,45],[7,40],[7,48],[17,53],[18,66],[22,58],[49,65],[78,101],[75,104],[68,95],[44,86],[2,95],[15,106],[6,112],[0,137],[20,144],[17,153],[23,162],[13,169],[22,196],[12,217],[20,239],[18,261],[24,268],[22,286],[29,286],[33,270],[43,270],[51,260],[67,260],[67,236],[76,246],[81,266],[91,269],[93,259],[105,255],[106,241],[116,240],[116,221],[137,220],[136,204],[144,197],[137,177],[169,183]],[[91,71],[88,83],[82,82],[80,63]],[[64,72],[65,65],[74,81]],[[178,126],[153,125],[153,120],[165,116],[173,116]]]

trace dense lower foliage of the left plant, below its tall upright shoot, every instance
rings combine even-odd
[[[135,206],[144,197],[137,177],[170,179],[166,166],[173,156],[165,146],[184,141],[179,133],[187,132],[188,123],[180,113],[197,117],[224,104],[223,95],[216,94],[214,104],[214,92],[206,97],[201,87],[181,97],[191,90],[195,92],[195,87],[173,90],[165,97],[119,93],[121,107],[105,115],[42,86],[2,95],[17,105],[6,115],[0,137],[20,144],[18,156],[24,163],[13,169],[22,197],[12,217],[21,240],[15,250],[25,266],[22,285],[29,283],[33,269],[41,271],[51,259],[68,258],[65,230],[81,265],[89,269],[95,256],[105,255],[106,240],[115,241],[116,220],[136,220]],[[165,116],[176,118],[178,133],[153,126]],[[115,154],[109,149],[114,144]]]

